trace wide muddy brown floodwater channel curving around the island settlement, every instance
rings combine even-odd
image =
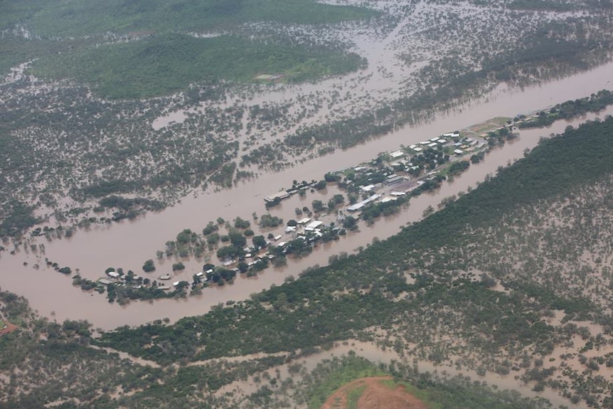
[[[123,267],[124,270],[142,272],[144,260],[155,258],[156,250],[163,250],[167,240],[174,240],[184,228],[200,231],[209,221],[219,216],[231,220],[236,216],[250,219],[255,211],[265,213],[264,196],[282,187],[292,185],[294,179],[321,179],[326,171],[334,171],[355,166],[362,161],[373,159],[378,152],[398,149],[401,144],[410,145],[444,132],[469,127],[495,116],[508,116],[533,112],[569,99],[585,97],[609,86],[613,77],[613,63],[602,65],[595,70],[574,75],[563,80],[545,83],[525,90],[506,90],[503,87],[478,102],[465,105],[447,114],[438,115],[435,121],[417,127],[406,127],[386,137],[375,139],[358,147],[339,151],[297,164],[285,171],[264,174],[258,179],[242,184],[228,191],[201,194],[183,198],[181,203],[160,213],[151,213],[137,221],[114,223],[108,227],[95,227],[80,230],[73,238],[53,240],[44,243],[44,254],[32,253],[24,248],[16,255],[8,252],[0,255],[0,287],[26,296],[33,308],[47,317],[63,319],[87,319],[95,327],[112,329],[120,325],[137,325],[154,319],[168,317],[175,321],[181,317],[203,314],[211,306],[228,300],[245,299],[270,285],[279,285],[286,277],[297,277],[312,265],[324,265],[331,255],[342,251],[353,252],[360,246],[371,243],[374,237],[388,238],[397,233],[400,226],[421,218],[428,206],[434,206],[447,196],[467,191],[476,186],[488,174],[494,174],[498,166],[506,166],[521,158],[525,149],[531,149],[541,136],[552,132],[563,132],[568,124],[577,125],[595,116],[611,115],[613,110],[589,115],[572,122],[556,122],[548,129],[535,129],[521,132],[521,137],[501,149],[494,149],[481,164],[470,166],[462,176],[452,183],[444,184],[439,191],[413,198],[410,208],[403,213],[378,221],[371,227],[361,226],[361,233],[348,235],[338,242],[320,245],[311,256],[303,260],[290,261],[287,267],[270,268],[257,277],[238,277],[233,285],[209,288],[200,296],[186,299],[164,299],[156,302],[132,302],[127,306],[109,304],[104,296],[90,294],[70,285],[70,277],[65,277],[45,266],[45,257],[58,262],[60,266],[79,269],[83,277],[95,280],[104,275],[107,267]],[[334,193],[334,187],[328,196]],[[294,208],[309,206],[311,201],[322,193],[311,193],[306,198],[294,196],[271,210],[271,214],[288,220],[294,218]],[[323,197],[322,197],[323,198]],[[156,261],[157,270],[151,274],[154,279],[164,272],[170,272],[175,260]],[[202,261],[184,261],[187,268],[174,280],[191,280],[194,272],[199,271]],[[27,265],[25,265],[27,263]],[[39,270],[33,265],[41,265]]]

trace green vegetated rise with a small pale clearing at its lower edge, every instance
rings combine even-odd
[[[72,78],[110,98],[142,98],[182,90],[190,83],[250,81],[281,74],[299,82],[356,70],[353,53],[295,48],[233,36],[194,38],[164,34],[113,46],[50,55],[33,64],[43,78]]]

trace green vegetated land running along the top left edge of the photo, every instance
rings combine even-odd
[[[42,36],[206,31],[257,21],[322,24],[375,14],[313,0],[0,0],[0,10],[0,28],[25,23]]]

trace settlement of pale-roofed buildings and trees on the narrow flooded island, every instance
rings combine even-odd
[[[281,189],[265,196],[266,207],[272,208],[294,194],[304,196],[309,190],[323,189],[328,183],[336,182],[336,186],[346,193],[347,198],[345,201],[341,197],[343,208],[334,209],[336,220],[333,222],[329,221],[329,217],[324,217],[327,216],[328,209],[316,211],[314,208],[314,213],[309,211],[307,216],[300,220],[292,220],[282,226],[282,233],[270,232],[267,240],[261,240],[258,245],[233,249],[233,253],[220,259],[220,265],[205,264],[201,271],[193,274],[190,281],[176,280],[174,273],[166,273],[156,280],[150,280],[134,275],[133,272],[124,274],[121,269],[110,268],[106,271],[107,277],[97,283],[107,286],[109,292],[114,287],[124,287],[133,293],[149,292],[155,294],[154,297],[168,297],[186,294],[184,290],[190,286],[192,292],[198,292],[209,283],[223,285],[225,282],[232,282],[238,274],[256,275],[270,264],[284,265],[287,255],[308,255],[316,243],[339,240],[346,234],[346,230],[356,230],[359,220],[373,223],[380,215],[393,214],[407,203],[411,196],[437,188],[447,176],[461,173],[469,167],[471,161],[483,159],[489,146],[500,143],[501,135],[512,135],[508,132],[495,132],[502,128],[503,126],[494,130],[490,128],[487,134],[442,134],[391,153],[379,154],[376,159],[359,166],[329,172],[325,175],[325,180],[294,181],[292,188]],[[325,218],[328,222],[319,220],[320,218]],[[285,240],[282,240],[284,237]]]

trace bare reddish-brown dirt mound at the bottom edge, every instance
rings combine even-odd
[[[427,409],[425,403],[407,393],[404,386],[392,389],[380,383],[391,379],[391,376],[371,376],[347,383],[330,395],[321,409],[348,409],[347,393],[356,388],[364,388],[358,409]]]

